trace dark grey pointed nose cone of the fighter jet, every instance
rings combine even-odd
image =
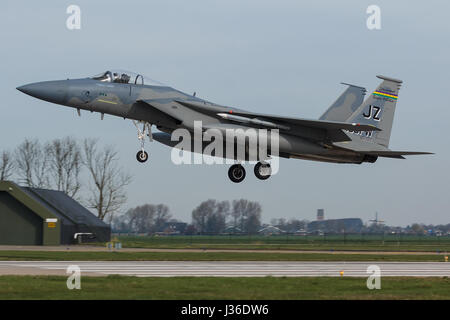
[[[67,95],[67,84],[64,80],[35,82],[16,89],[29,96],[53,103],[64,103]]]

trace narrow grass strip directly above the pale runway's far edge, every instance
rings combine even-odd
[[[54,261],[444,261],[420,254],[265,253],[265,252],[60,252],[0,251],[1,260]]]

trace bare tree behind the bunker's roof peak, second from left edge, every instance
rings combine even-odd
[[[28,187],[48,188],[48,155],[39,140],[25,139],[16,149],[16,168],[20,183]]]

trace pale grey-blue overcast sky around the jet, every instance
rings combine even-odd
[[[81,29],[66,8],[81,8]],[[381,30],[366,9],[381,8]],[[114,144],[133,176],[127,207],[166,203],[190,221],[208,198],[259,201],[263,220],[379,217],[390,225],[449,223],[450,3],[444,1],[9,1],[0,10],[0,150],[26,137],[72,135]],[[31,98],[19,85],[128,69],[216,103],[318,118],[345,89],[369,92],[382,74],[404,81],[390,148],[431,151],[407,160],[339,165],[281,160],[280,172],[234,184],[226,165],[182,165],[170,148],[139,148],[131,121]]]

